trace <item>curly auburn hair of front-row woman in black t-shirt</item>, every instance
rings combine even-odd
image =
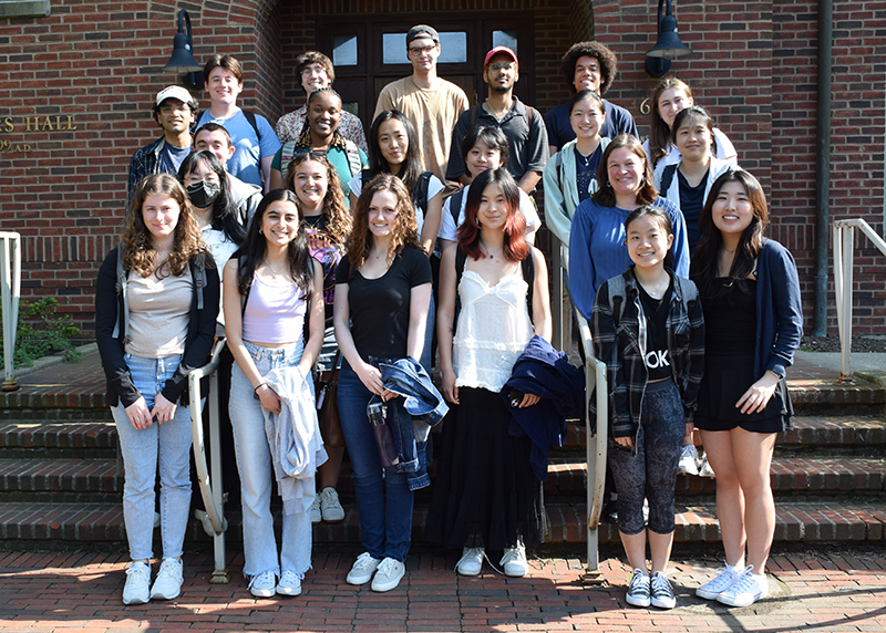
[[[388,258],[392,259],[400,255],[406,246],[424,252],[419,243],[419,224],[415,221],[415,208],[412,206],[412,197],[409,195],[406,186],[403,180],[392,174],[379,174],[363,185],[360,197],[357,199],[357,208],[353,211],[353,230],[348,237],[346,247],[351,263],[351,274],[363,266],[372,249],[374,238],[369,230],[369,206],[375,194],[380,191],[391,191],[396,197],[396,222],[393,229],[393,239],[388,249]]]

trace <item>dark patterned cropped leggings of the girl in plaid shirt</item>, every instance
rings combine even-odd
[[[650,383],[643,393],[636,450],[609,442],[609,468],[618,492],[618,529],[643,531],[643,498],[649,500],[649,529],[673,531],[673,489],[686,435],[686,414],[673,381]]]

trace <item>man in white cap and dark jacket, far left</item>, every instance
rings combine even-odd
[[[154,100],[154,121],[163,128],[163,136],[133,154],[126,185],[126,208],[135,187],[151,174],[178,174],[185,156],[190,154],[190,124],[197,102],[181,85],[171,85],[157,93]]]

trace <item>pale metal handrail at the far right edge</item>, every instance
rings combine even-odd
[[[863,219],[834,221],[834,293],[837,300],[839,331],[839,382],[851,383],[852,371],[852,268],[855,255],[855,231],[859,229],[886,255],[886,241]]]

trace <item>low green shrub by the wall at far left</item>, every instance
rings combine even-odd
[[[51,297],[19,303],[19,326],[12,355],[17,367],[30,366],[35,360],[59,352],[64,353],[68,362],[80,360],[80,353],[71,343],[71,339],[81,335],[80,329],[73,324],[70,314],[55,314],[58,304],[59,301]],[[3,341],[0,338],[0,359],[2,354]]]

